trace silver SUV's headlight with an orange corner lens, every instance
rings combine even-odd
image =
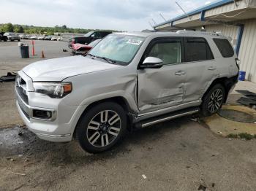
[[[50,98],[63,98],[72,92],[71,82],[34,82],[37,93],[48,95]]]

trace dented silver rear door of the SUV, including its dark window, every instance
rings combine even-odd
[[[209,82],[217,77],[214,55],[205,38],[184,37],[186,85],[184,102],[197,101]]]

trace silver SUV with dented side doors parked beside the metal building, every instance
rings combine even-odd
[[[237,82],[237,56],[220,34],[110,34],[88,55],[18,72],[17,106],[40,139],[102,152],[132,127],[218,112]]]

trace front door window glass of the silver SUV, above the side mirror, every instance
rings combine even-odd
[[[158,42],[151,48],[148,56],[160,58],[163,64],[181,62],[181,42]]]

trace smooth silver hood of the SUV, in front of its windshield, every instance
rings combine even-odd
[[[105,61],[93,60],[79,55],[31,63],[23,69],[23,72],[31,77],[33,81],[60,82],[67,77],[118,69],[120,67],[123,66],[113,65],[105,63]]]

